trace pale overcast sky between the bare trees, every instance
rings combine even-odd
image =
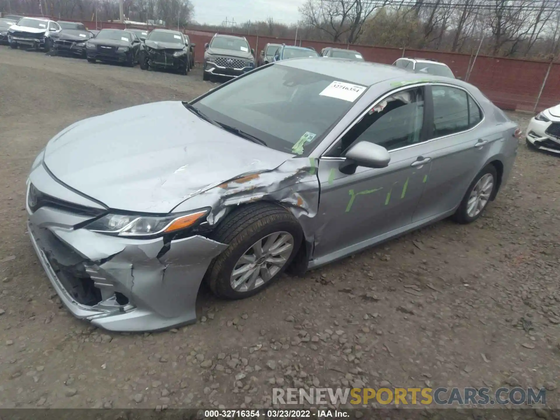
[[[266,20],[268,16],[283,24],[300,19],[297,8],[304,0],[190,0],[194,4],[194,20],[199,24],[220,25],[235,19],[241,24],[248,20]]]

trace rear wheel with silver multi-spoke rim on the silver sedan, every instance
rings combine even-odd
[[[459,204],[459,208],[452,216],[458,223],[466,224],[477,220],[493,197],[497,188],[498,174],[496,167],[490,164],[478,172],[474,181],[469,185],[466,194]]]

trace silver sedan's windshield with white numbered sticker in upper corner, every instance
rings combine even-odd
[[[304,155],[365,90],[324,74],[278,65],[218,88],[193,106],[270,148]]]

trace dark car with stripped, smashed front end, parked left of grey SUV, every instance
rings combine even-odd
[[[184,35],[179,31],[154,29],[144,40],[140,53],[140,68],[172,69],[188,74],[190,69],[190,49]]]

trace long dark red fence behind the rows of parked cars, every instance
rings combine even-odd
[[[95,22],[86,22],[89,29],[95,29]],[[124,29],[124,24],[111,22],[97,22],[97,29],[101,28]],[[133,26],[129,26],[133,27]],[[151,28],[148,28],[151,29]],[[197,44],[195,47],[195,60],[201,62],[204,58],[204,44],[209,42],[214,35],[211,31],[185,30],[190,40]],[[271,38],[269,36],[244,35],[249,41],[255,54],[259,54],[267,43],[293,45],[293,39]],[[298,40],[297,45],[300,44]],[[346,44],[324,43],[319,41],[301,41],[302,46],[312,46],[320,52],[326,46],[344,48]],[[350,45],[349,48],[359,51],[367,61],[392,64],[397,58],[403,56],[399,48],[386,48],[370,45]],[[405,57],[432,58],[444,62],[451,68],[455,76],[465,79],[469,63],[473,59],[470,54],[445,53],[428,50],[404,50]],[[502,109],[521,109],[532,111],[539,95],[545,74],[549,67],[548,62],[509,58],[486,57],[479,55],[469,77],[469,83],[477,86],[486,96]],[[537,110],[543,110],[560,103],[560,63],[554,63],[539,100]]]

